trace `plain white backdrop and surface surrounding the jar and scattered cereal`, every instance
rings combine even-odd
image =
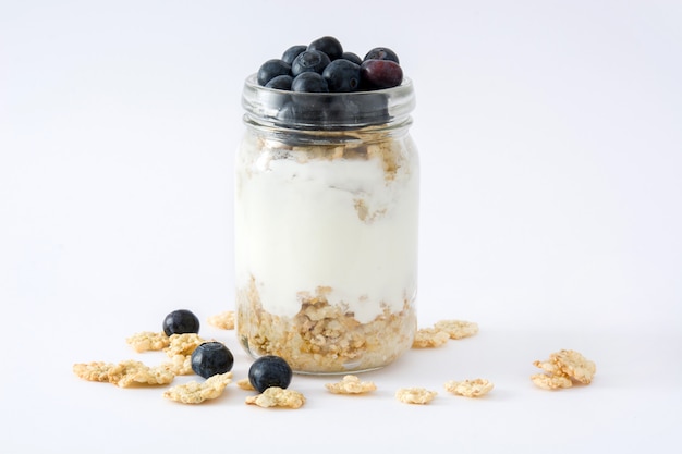
[[[679,1],[2,1],[2,452],[675,452],[682,420]],[[393,48],[422,155],[419,324],[477,336],[299,410],[75,378],[125,338],[233,308],[242,82],[293,44]],[[233,332],[203,334],[248,358]],[[559,348],[589,386],[534,388]],[[485,398],[442,383],[485,377]],[[178,379],[181,381],[181,379]],[[183,379],[184,380],[184,379]],[[438,391],[428,406],[400,386]],[[662,447],[666,446],[666,447]]]

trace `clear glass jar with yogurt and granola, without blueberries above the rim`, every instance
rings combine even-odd
[[[236,330],[300,373],[383,367],[416,332],[411,81],[304,94],[246,79],[235,162]]]

